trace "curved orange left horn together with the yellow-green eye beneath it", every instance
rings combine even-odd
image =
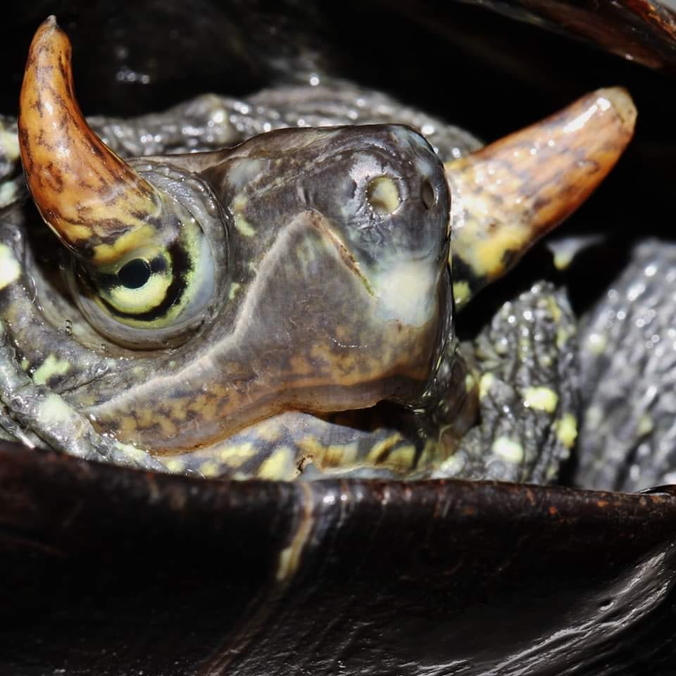
[[[215,288],[211,246],[186,206],[190,181],[163,170],[166,192],[96,136],[75,99],[71,52],[54,17],[30,46],[18,126],[31,195],[73,253],[68,285],[89,323],[131,347],[177,344]]]

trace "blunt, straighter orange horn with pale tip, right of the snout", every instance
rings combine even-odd
[[[444,165],[453,196],[456,306],[501,277],[589,197],[634,133],[625,89],[598,89],[531,127]]]

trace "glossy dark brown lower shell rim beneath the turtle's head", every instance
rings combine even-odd
[[[670,495],[217,482],[13,444],[0,485],[17,676],[599,676],[673,648]]]

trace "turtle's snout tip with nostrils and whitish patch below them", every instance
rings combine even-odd
[[[353,165],[367,213],[356,210],[349,237],[380,317],[420,327],[439,316],[449,283],[449,189],[420,134],[392,125],[382,139],[387,146],[374,146],[387,148],[387,156],[364,154]]]

